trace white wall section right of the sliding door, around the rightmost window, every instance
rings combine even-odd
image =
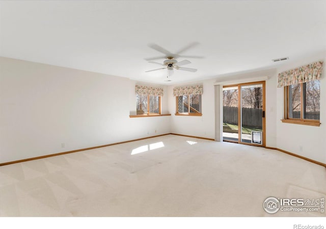
[[[323,71],[320,79],[320,123],[319,127],[282,123],[284,118],[284,91],[277,89],[277,148],[301,155],[322,163],[326,163],[326,53],[321,52],[306,56],[283,65],[278,73],[307,65],[316,61],[323,61]],[[300,150],[302,147],[302,151]]]

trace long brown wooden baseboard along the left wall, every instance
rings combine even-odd
[[[9,162],[5,162],[5,163],[0,163],[0,166],[20,163],[20,162],[24,162],[24,161],[32,161],[32,160],[37,160],[37,159],[42,159],[42,158],[47,158],[47,157],[54,157],[54,156],[59,156],[59,155],[64,155],[64,154],[71,154],[71,153],[76,153],[76,152],[85,151],[85,150],[93,150],[93,149],[97,149],[97,148],[101,148],[101,147],[114,146],[114,145],[123,144],[123,143],[131,142],[131,141],[139,141],[139,140],[144,140],[144,139],[148,139],[148,138],[152,138],[152,137],[159,137],[159,136],[164,136],[164,135],[169,135],[169,134],[170,133],[160,134],[160,135],[155,135],[155,136],[150,136],[150,137],[142,137],[142,138],[127,140],[127,141],[115,142],[112,144],[107,144],[107,145],[102,145],[102,146],[89,147],[89,148],[84,148],[84,149],[79,149],[79,150],[71,150],[71,151],[66,151],[66,152],[56,153],[56,154],[48,154],[48,155],[44,155],[44,156],[26,158],[26,159],[17,160],[17,161],[9,161]]]

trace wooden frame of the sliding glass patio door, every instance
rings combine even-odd
[[[254,85],[254,84],[262,84],[263,85],[263,109],[262,111],[265,112],[265,116],[262,118],[262,124],[263,124],[263,130],[262,130],[262,140],[263,144],[262,145],[257,145],[253,143],[247,143],[247,142],[242,142],[241,141],[241,86],[246,86],[246,85]],[[238,140],[224,140],[223,136],[222,139],[223,141],[228,141],[228,142],[235,142],[238,144],[243,144],[243,145],[250,145],[250,146],[258,146],[258,147],[266,147],[266,90],[265,90],[265,85],[266,81],[256,81],[256,82],[248,82],[248,83],[236,83],[236,84],[230,84],[230,85],[223,85],[223,88],[229,88],[229,87],[238,87]],[[222,102],[222,112],[223,112],[223,102]],[[222,118],[222,128],[223,128],[223,118]]]

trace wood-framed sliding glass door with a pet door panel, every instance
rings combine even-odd
[[[223,140],[265,146],[265,82],[223,87]]]

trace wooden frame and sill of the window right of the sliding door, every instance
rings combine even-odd
[[[304,119],[304,106],[305,106],[305,100],[304,100],[304,88],[305,83],[300,83],[300,99],[301,99],[301,105],[300,105],[300,119],[297,118],[289,118],[290,117],[290,108],[289,108],[289,86],[284,87],[284,119],[281,121],[283,123],[292,123],[292,124],[300,124],[300,125],[308,125],[308,126],[320,126],[320,120],[313,120],[313,119]]]

